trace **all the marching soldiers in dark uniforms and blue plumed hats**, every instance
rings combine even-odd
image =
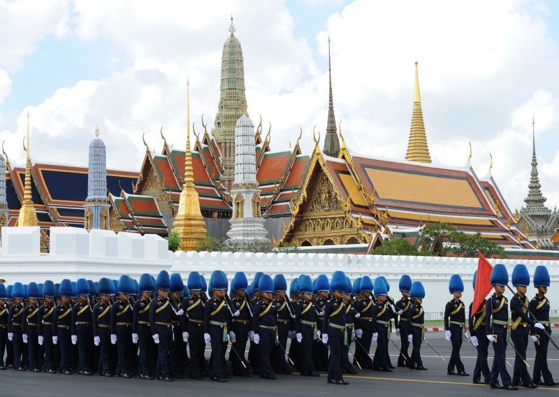
[[[523,265],[514,268],[512,283],[517,291],[510,303],[511,325],[504,296],[507,283],[506,268],[496,265],[491,273],[495,294],[466,319],[460,300],[464,284],[459,275],[451,277],[453,299],[444,312],[445,336],[452,344],[447,373],[469,375],[460,361],[460,347],[469,340],[478,352],[474,383],[501,389],[556,386],[559,383],[553,381],[546,362],[551,333],[545,296],[549,274],[544,266],[536,268],[537,294],[529,301],[528,270]],[[409,275],[402,275],[398,287],[402,297],[394,301],[382,276],[373,282],[365,275],[352,284],[342,271],[330,280],[326,275],[315,280],[300,275],[288,290],[281,274],[272,278],[256,273],[249,284],[245,273],[238,272],[229,285],[221,270],[212,273],[208,285],[198,272],[189,273],[184,285],[180,274],[165,270],[157,280],[146,273],[139,282],[122,275],[118,281],[81,278],[27,286],[15,282],[7,289],[0,284],[0,370],[9,366],[168,382],[185,375],[227,382],[231,373],[245,377],[252,372],[275,380],[275,373],[297,370],[318,377],[318,371],[327,371],[329,384],[348,384],[343,375],[357,373],[358,368],[392,372],[393,329],[400,338],[397,366],[426,370],[421,360],[426,342],[421,305],[425,289]],[[371,354],[373,340],[376,349]],[[525,365],[529,340],[536,349],[532,377]],[[495,352],[491,371],[490,344]],[[505,366],[507,345],[516,352],[512,378]],[[209,361],[204,354],[207,346],[211,347]]]

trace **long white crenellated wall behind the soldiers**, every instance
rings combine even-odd
[[[140,236],[136,233],[71,227],[50,228],[50,253],[39,252],[38,228],[2,228],[0,250],[0,278],[6,284],[20,281],[59,282],[63,278],[75,280],[85,277],[99,280],[101,277],[118,278],[122,274],[136,279],[142,273],[157,276],[160,270],[180,273],[186,282],[191,270],[198,270],[210,277],[213,270],[227,273],[229,280],[237,271],[244,271],[250,281],[254,273],[262,271],[270,275],[283,273],[288,281],[301,273],[316,277],[324,273],[330,277],[335,270],[344,270],[353,281],[356,277],[369,275],[373,279],[384,275],[391,285],[391,296],[398,298],[398,280],[409,274],[412,280],[423,282],[426,289],[424,308],[426,312],[444,310],[450,299],[448,280],[453,274],[463,277],[465,291],[463,301],[472,300],[472,275],[477,269],[477,258],[440,257],[391,257],[361,254],[316,253],[252,253],[252,252],[170,252],[167,241],[159,236]],[[492,264],[502,263],[509,269],[509,277],[515,264],[523,263],[530,274],[538,265],[545,265],[551,275],[549,299],[553,308],[559,308],[559,261],[491,259]],[[529,295],[535,289],[528,289]],[[509,294],[510,296],[510,294]],[[558,305],[554,305],[558,303]]]

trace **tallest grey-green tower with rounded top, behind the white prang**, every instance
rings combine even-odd
[[[235,124],[247,106],[245,98],[245,67],[242,48],[235,37],[235,25],[231,16],[229,37],[224,43],[222,54],[222,84],[217,115],[212,136],[222,153],[224,175],[222,181],[227,190],[231,189],[235,168]]]

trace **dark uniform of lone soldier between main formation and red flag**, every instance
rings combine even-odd
[[[447,372],[451,373],[456,368],[458,373],[465,373],[464,364],[460,359],[460,349],[464,340],[466,309],[463,301],[452,298],[444,307],[444,329],[450,331],[452,353],[450,356]]]

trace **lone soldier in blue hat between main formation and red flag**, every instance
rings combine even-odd
[[[452,275],[449,281],[449,292],[453,298],[447,302],[444,308],[444,337],[452,343],[452,353],[447,366],[447,375],[470,376],[464,369],[464,364],[460,360],[460,349],[465,333],[465,307],[460,301],[464,291],[464,282],[460,275]],[[467,337],[467,334],[466,334]],[[456,372],[454,369],[456,368]]]

